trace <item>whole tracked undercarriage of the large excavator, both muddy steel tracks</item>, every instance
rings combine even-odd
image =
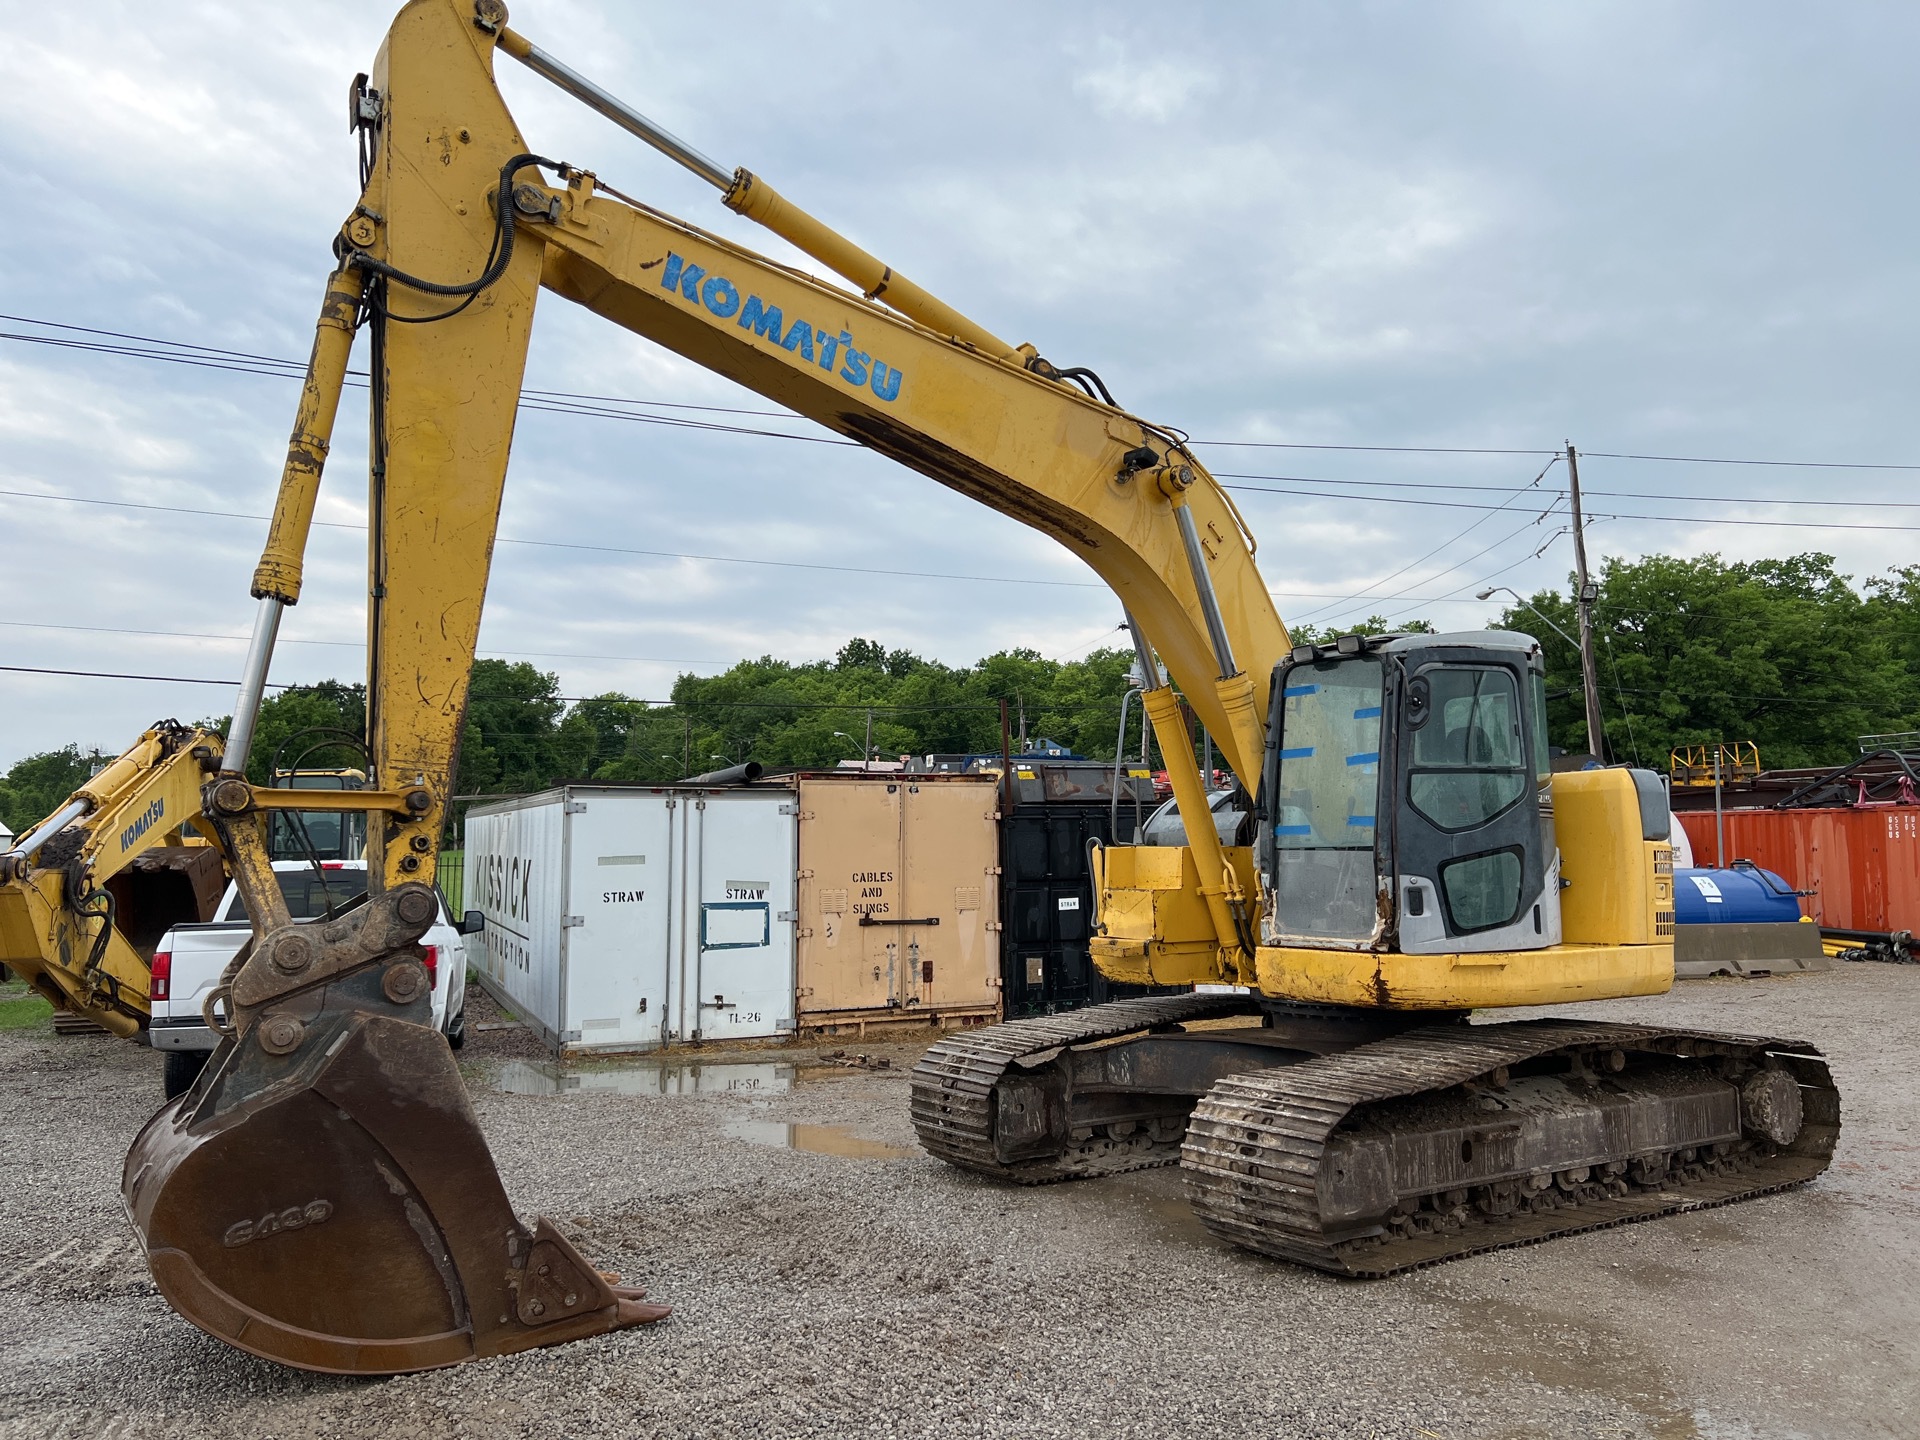
[[[1219,1238],[1379,1277],[1826,1169],[1811,1046],[1177,995],[996,1025],[914,1069],[927,1152],[1020,1185],[1179,1162]]]

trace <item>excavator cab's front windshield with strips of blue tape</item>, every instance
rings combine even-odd
[[[1286,672],[1273,810],[1275,918],[1284,935],[1373,933],[1380,693],[1371,655]]]

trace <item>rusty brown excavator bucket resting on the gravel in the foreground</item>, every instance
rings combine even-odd
[[[386,950],[253,1016],[236,1004],[238,1035],[140,1131],[121,1190],[167,1302],[240,1350],[336,1375],[662,1319],[551,1223],[515,1217],[453,1052],[424,1023],[417,956]]]

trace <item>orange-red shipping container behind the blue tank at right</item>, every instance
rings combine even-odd
[[[1693,864],[1713,866],[1713,810],[1676,816]],[[1834,929],[1920,929],[1920,808],[1726,810],[1726,860],[1753,860],[1812,891],[1801,908]]]

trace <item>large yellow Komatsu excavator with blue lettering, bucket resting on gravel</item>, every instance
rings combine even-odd
[[[501,58],[852,290],[534,154],[495,88]],[[1185,845],[1100,864],[1102,972],[1210,989],[941,1041],[912,1081],[927,1150],[1018,1183],[1181,1160],[1213,1231],[1350,1275],[1720,1204],[1828,1164],[1837,1100],[1803,1044],[1469,1023],[1672,981],[1659,797],[1626,770],[1549,776],[1530,639],[1292,645],[1246,524],[1179,430],[666,134],[511,29],[501,0],[405,6],[351,123],[365,192],[334,242],[225,755],[248,755],[300,599],[365,328],[371,783],[282,801],[221,770],[202,789],[253,939],[225,985],[232,1035],[140,1133],[123,1181],[159,1288],[196,1325],[290,1365],[390,1373],[666,1313],[515,1217],[426,1025],[417,948],[541,290],[1058,540],[1125,605],[1181,812],[1208,814],[1208,795],[1173,685],[1254,791],[1252,845],[1196,824]],[[369,814],[371,895],[294,925],[265,816],[321,799]]]

